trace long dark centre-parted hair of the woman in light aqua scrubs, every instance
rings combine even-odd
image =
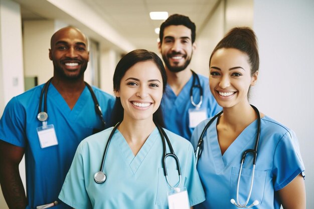
[[[163,79],[163,92],[165,92],[167,85],[167,74],[163,64],[163,61],[158,55],[153,52],[149,52],[144,49],[137,49],[127,53],[122,59],[118,62],[114,74],[113,74],[113,90],[120,90],[120,83],[122,77],[125,75],[125,72],[130,69],[133,65],[139,62],[152,61],[159,68],[162,79]],[[143,72],[144,73],[144,72]],[[164,119],[161,107],[159,107],[156,112],[153,113],[153,121],[162,127],[164,127]],[[115,125],[117,122],[123,120],[123,107],[121,104],[120,98],[116,98],[115,105],[112,113],[112,124]]]

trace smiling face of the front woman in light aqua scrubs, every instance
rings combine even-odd
[[[138,62],[129,68],[115,91],[124,109],[123,120],[150,120],[160,106],[163,78],[152,61]]]

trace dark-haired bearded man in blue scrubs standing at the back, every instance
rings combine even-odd
[[[190,69],[195,30],[188,17],[172,15],[160,27],[158,44],[168,76],[161,103],[165,128],[188,140],[196,125],[221,110],[209,90],[208,78]]]

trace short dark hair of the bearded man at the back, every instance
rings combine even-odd
[[[163,43],[163,38],[164,38],[164,30],[168,26],[180,26],[183,25],[191,30],[191,39],[192,39],[192,44],[195,41],[195,31],[196,31],[196,26],[195,24],[190,20],[189,17],[184,16],[184,15],[172,15],[170,16],[164,23],[162,23],[160,27],[160,32],[159,32],[159,39],[161,44]]]

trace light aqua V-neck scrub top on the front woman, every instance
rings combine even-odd
[[[134,156],[122,134],[116,130],[104,163],[107,179],[98,184],[94,174],[99,171],[102,156],[112,127],[89,136],[77,148],[59,198],[76,209],[80,208],[168,208],[166,182],[162,167],[163,144],[157,128]],[[182,182],[190,204],[205,200],[196,170],[192,144],[165,130],[178,156]],[[167,144],[167,142],[166,142]],[[169,152],[168,145],[167,150]],[[167,158],[168,177],[172,184],[179,180],[175,160]]]

